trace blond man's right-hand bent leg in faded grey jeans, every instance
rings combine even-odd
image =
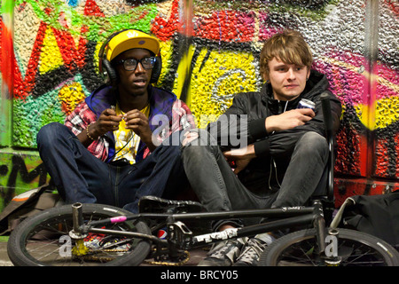
[[[291,162],[272,207],[299,206],[306,203],[317,188],[328,161],[328,145],[316,132],[307,132],[298,140]]]

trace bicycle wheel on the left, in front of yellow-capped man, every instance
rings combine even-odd
[[[129,211],[113,206],[82,204],[85,221],[127,214]],[[98,237],[96,240],[102,241],[90,242],[89,246],[88,239],[84,242],[69,237],[68,233],[72,227],[71,205],[44,210],[27,218],[12,231],[7,244],[12,264],[16,266],[138,265],[150,252],[150,241],[134,238],[116,240],[115,236],[106,234],[96,235]],[[123,222],[102,228],[151,234],[143,222]],[[89,236],[95,237],[93,234]]]

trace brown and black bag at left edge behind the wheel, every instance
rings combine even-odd
[[[48,184],[28,190],[14,198],[0,214],[0,235],[11,233],[25,218],[55,207],[61,198]]]

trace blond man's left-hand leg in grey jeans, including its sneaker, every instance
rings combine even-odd
[[[183,161],[187,178],[207,211],[270,207],[270,198],[255,196],[242,185],[207,131],[200,130],[199,138],[184,146]],[[237,227],[242,222],[236,219],[220,220],[213,224],[214,231],[223,230],[223,225]],[[269,235],[265,238],[269,238]],[[199,265],[231,265],[239,257],[245,242],[244,238],[220,242]]]

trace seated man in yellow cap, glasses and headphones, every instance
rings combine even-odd
[[[159,54],[158,39],[142,31],[113,34],[99,51],[106,84],[76,106],[64,125],[51,122],[39,131],[39,153],[66,203],[137,212],[140,197],[179,188],[179,139],[169,140],[194,121],[175,94],[152,85],[160,76]]]

